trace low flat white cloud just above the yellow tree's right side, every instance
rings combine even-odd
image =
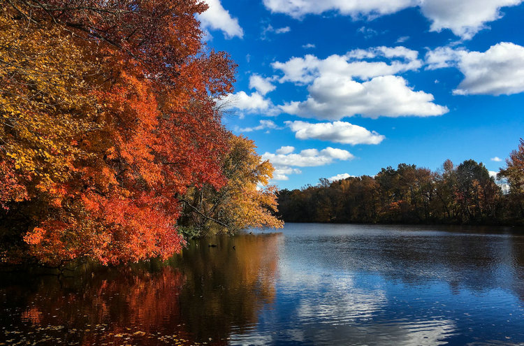
[[[281,148],[282,149],[282,148]],[[323,150],[305,149],[298,154],[272,154],[265,152],[262,154],[263,160],[269,160],[278,167],[316,167],[332,164],[335,160],[347,161],[354,159],[353,154],[347,150],[326,147]]]

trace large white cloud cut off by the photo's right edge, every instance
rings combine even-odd
[[[510,95],[524,92],[524,47],[509,42],[486,52],[440,47],[425,56],[428,69],[454,66],[464,75],[453,94]]]

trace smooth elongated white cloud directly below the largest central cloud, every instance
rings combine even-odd
[[[384,136],[349,122],[286,122],[298,139],[319,139],[342,144],[379,144]]]

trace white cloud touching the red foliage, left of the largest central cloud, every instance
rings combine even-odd
[[[264,115],[277,115],[278,110],[275,108],[270,99],[265,99],[259,92],[253,92],[248,95],[245,92],[227,94],[221,99],[215,100],[219,108],[226,110],[240,110],[243,113],[263,113]]]

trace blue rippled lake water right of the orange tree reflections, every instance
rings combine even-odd
[[[524,342],[522,236],[319,224],[285,234],[279,291],[292,303],[276,314],[297,318],[261,329],[284,331],[270,344]]]

